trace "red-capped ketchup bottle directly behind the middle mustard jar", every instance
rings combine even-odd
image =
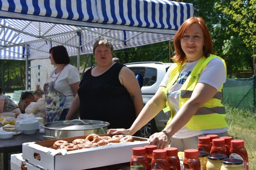
[[[223,154],[228,156],[225,139],[212,139],[212,147],[210,154]]]

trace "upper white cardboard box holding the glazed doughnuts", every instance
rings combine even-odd
[[[74,139],[80,138],[86,138],[86,136],[68,137],[61,140],[72,143]],[[22,146],[23,159],[45,170],[81,170],[130,162],[133,147],[149,145],[149,139],[133,137],[133,140],[137,142],[119,143],[67,152],[66,149],[55,150],[49,148],[57,140],[60,139],[24,143]],[[40,154],[40,161],[34,158],[34,154]]]

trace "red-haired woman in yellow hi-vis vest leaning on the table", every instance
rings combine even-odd
[[[163,131],[152,134],[150,145],[178,151],[196,149],[198,137],[227,135],[226,111],[221,103],[226,81],[225,61],[214,55],[212,39],[201,17],[186,20],[174,36],[175,62],[167,71],[154,97],[129,129],[110,129],[108,133],[132,135],[161,109],[169,121]]]

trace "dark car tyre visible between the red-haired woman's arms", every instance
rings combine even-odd
[[[156,129],[155,120],[154,119],[150,120],[138,132],[139,132],[139,136],[144,138],[148,138],[150,135],[154,134],[155,132],[158,132]]]

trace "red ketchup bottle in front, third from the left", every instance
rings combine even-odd
[[[169,170],[169,163],[167,162],[167,150],[165,149],[153,150],[151,170]]]

